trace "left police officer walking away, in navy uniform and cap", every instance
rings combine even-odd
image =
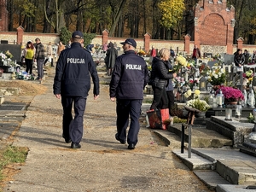
[[[61,98],[63,107],[62,137],[66,143],[72,142],[71,148],[81,148],[79,143],[83,137],[83,117],[90,90],[90,76],[94,84],[94,99],[99,96],[99,78],[90,52],[81,46],[84,43],[83,33],[73,32],[71,41],[71,48],[62,50],[57,61],[53,89],[56,98]]]

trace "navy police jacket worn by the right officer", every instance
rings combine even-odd
[[[110,97],[117,99],[143,99],[143,90],[147,84],[148,67],[143,57],[133,50],[119,55],[113,67],[109,84]]]

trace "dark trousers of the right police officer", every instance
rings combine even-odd
[[[131,118],[130,129],[127,135],[128,144],[137,144],[137,135],[140,130],[139,118],[143,100],[117,100],[117,132],[122,141],[126,141],[126,129]]]

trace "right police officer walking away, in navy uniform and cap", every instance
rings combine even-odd
[[[147,84],[148,68],[144,59],[135,53],[137,43],[127,38],[123,44],[125,54],[117,57],[113,67],[112,79],[109,85],[110,99],[115,101],[117,113],[117,133],[115,138],[125,144],[128,149],[134,149],[137,144],[137,135],[140,129],[139,117],[143,103],[143,90]],[[131,124],[128,135],[126,129]]]

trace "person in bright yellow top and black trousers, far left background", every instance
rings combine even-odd
[[[23,57],[25,58],[26,63],[26,73],[32,74],[32,68],[33,68],[33,59],[35,56],[35,48],[31,41],[28,41],[26,44],[26,48],[23,49]]]

